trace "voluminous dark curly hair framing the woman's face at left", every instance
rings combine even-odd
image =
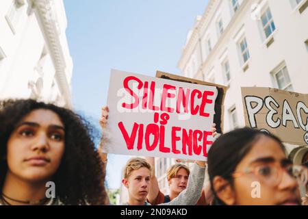
[[[31,99],[0,102],[0,191],[8,164],[1,161],[7,153],[7,143],[18,122],[33,110],[51,110],[64,124],[65,150],[53,181],[57,197],[64,205],[104,205],[105,168],[94,146],[94,129],[84,118],[71,110]]]

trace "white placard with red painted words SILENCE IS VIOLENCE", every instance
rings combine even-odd
[[[112,70],[107,153],[205,160],[216,86]]]

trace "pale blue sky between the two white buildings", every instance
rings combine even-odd
[[[188,31],[208,0],[64,0],[73,57],[74,109],[99,129],[112,68],[155,77],[181,74]],[[129,157],[108,155],[107,188],[120,187]]]

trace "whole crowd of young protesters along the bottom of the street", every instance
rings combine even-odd
[[[0,205],[110,205],[101,152],[107,119],[103,107],[97,149],[94,129],[75,112],[30,99],[1,101]],[[220,136],[215,125],[212,132],[207,162],[170,167],[169,194],[159,190],[153,157],[129,159],[122,205],[308,205],[307,160],[292,164],[279,138],[248,128]],[[50,181],[56,192],[47,197]]]

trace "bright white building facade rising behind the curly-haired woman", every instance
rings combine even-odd
[[[0,99],[73,107],[66,27],[62,0],[0,1]]]

